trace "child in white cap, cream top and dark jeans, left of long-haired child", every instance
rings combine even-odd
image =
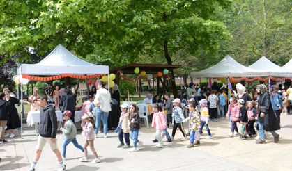
[[[123,147],[124,149],[130,148],[130,120],[128,113],[128,104],[121,104],[121,116],[120,121],[118,122],[118,127],[121,129],[118,131],[118,140],[120,140],[120,144],[118,148]],[[125,136],[125,143],[123,142],[123,136]]]

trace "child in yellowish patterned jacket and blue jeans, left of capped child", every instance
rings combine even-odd
[[[184,122],[189,122],[190,129],[190,144],[187,145],[187,148],[194,147],[194,137],[196,131],[201,127],[201,119],[198,111],[196,110],[196,104],[194,102],[188,104],[190,110],[189,116],[184,120]]]

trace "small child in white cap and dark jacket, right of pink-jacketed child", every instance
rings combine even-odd
[[[245,100],[244,99],[238,99],[238,106],[239,108],[239,118],[240,118],[240,126],[241,126],[241,135],[239,137],[239,140],[246,140],[247,139],[247,133],[245,131],[245,128],[247,127],[248,117],[247,117],[247,109],[244,106]]]

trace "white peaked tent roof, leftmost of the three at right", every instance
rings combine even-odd
[[[253,70],[236,62],[231,56],[226,56],[216,65],[199,72],[191,72],[190,76],[195,77],[242,77],[242,76],[262,76],[267,74],[261,71]]]

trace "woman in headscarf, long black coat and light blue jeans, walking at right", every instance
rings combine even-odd
[[[267,87],[263,84],[256,86],[256,92],[259,94],[258,98],[258,124],[259,124],[259,140],[256,144],[266,143],[264,130],[272,133],[274,142],[279,141],[279,134],[275,131],[280,129],[279,122],[277,122],[272,105],[270,101],[270,94],[267,92]]]

